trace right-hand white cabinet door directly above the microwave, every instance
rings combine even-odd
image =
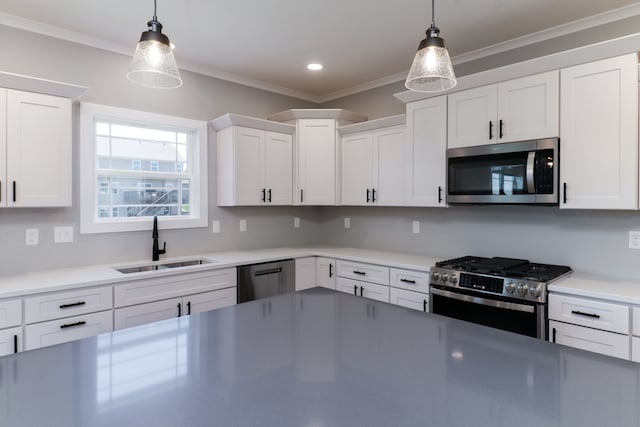
[[[498,84],[500,142],[557,137],[560,127],[560,78],[551,71]]]

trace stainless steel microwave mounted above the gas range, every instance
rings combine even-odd
[[[558,138],[447,150],[447,203],[558,204]]]

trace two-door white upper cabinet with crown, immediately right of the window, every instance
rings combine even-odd
[[[233,114],[212,124],[218,131],[218,205],[290,205],[295,128]]]

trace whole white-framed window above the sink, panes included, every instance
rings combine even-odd
[[[206,227],[206,129],[83,103],[80,231],[151,229],[153,216],[163,217],[162,228]]]

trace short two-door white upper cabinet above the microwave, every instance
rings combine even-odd
[[[449,95],[448,147],[558,136],[558,72]]]

